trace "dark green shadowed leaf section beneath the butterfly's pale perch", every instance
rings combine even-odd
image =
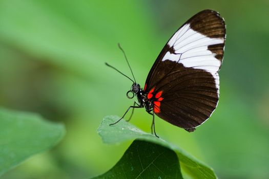
[[[183,178],[177,154],[158,144],[135,140],[119,162],[98,178]]]

